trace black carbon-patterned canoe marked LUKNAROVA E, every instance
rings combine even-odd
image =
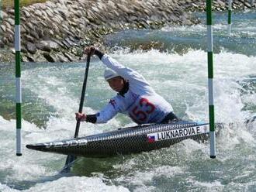
[[[65,155],[108,157],[161,149],[184,139],[200,142],[208,138],[209,124],[207,123],[175,122],[140,125],[76,139],[31,144],[26,147]]]

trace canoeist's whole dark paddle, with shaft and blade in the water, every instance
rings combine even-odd
[[[83,87],[82,87],[82,90],[81,90],[81,100],[80,100],[80,105],[79,105],[79,110],[78,110],[79,113],[81,113],[83,111],[83,105],[84,105],[84,101],[85,101],[85,90],[86,90],[90,60],[91,60],[91,54],[88,54],[88,57],[87,57],[87,60],[86,60],[86,67],[85,67],[85,78],[84,78],[84,83],[83,83]],[[75,127],[74,138],[78,137],[80,122],[81,122],[81,119],[78,118],[77,125]],[[77,156],[68,155],[67,159],[66,159],[65,166],[61,170],[61,173],[69,173],[71,171],[71,166],[74,164],[75,159],[77,159]]]

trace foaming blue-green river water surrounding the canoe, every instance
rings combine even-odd
[[[59,174],[66,156],[25,145],[73,137],[85,63],[22,64],[23,150],[17,157],[15,72],[13,64],[2,63],[0,191],[255,191],[256,121],[250,121],[256,115],[256,12],[235,12],[230,37],[226,12],[214,18],[215,115],[224,123],[217,130],[216,159],[209,158],[209,143],[185,140],[150,153],[78,158],[70,174]],[[161,51],[129,48],[149,42]],[[115,46],[111,56],[143,74],[180,118],[208,122],[206,26],[125,31],[106,37],[106,43]],[[103,71],[92,58],[83,109],[88,114],[115,94]],[[130,125],[117,115],[105,125],[82,123],[79,135]]]

